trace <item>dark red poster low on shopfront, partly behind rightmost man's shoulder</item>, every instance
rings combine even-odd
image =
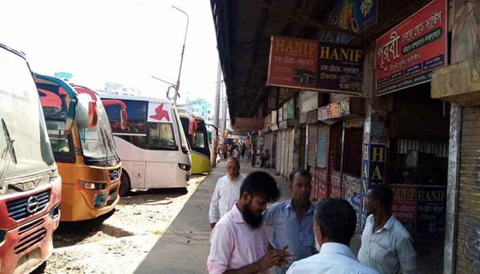
[[[410,234],[416,231],[417,187],[390,185],[394,192],[392,212]]]

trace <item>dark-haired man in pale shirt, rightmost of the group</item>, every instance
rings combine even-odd
[[[407,229],[392,214],[394,192],[385,184],[367,193],[367,212],[359,260],[382,274],[417,272],[417,253]]]

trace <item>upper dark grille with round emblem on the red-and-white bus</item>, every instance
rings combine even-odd
[[[31,196],[8,201],[8,216],[15,221],[19,221],[20,219],[33,215],[47,207],[49,198],[50,190],[46,190]]]

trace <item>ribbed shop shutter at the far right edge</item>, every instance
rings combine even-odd
[[[474,274],[479,269],[480,237],[480,106],[463,109],[456,273]]]

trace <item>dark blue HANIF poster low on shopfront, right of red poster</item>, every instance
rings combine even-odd
[[[419,186],[417,195],[417,233],[445,232],[446,187]]]

